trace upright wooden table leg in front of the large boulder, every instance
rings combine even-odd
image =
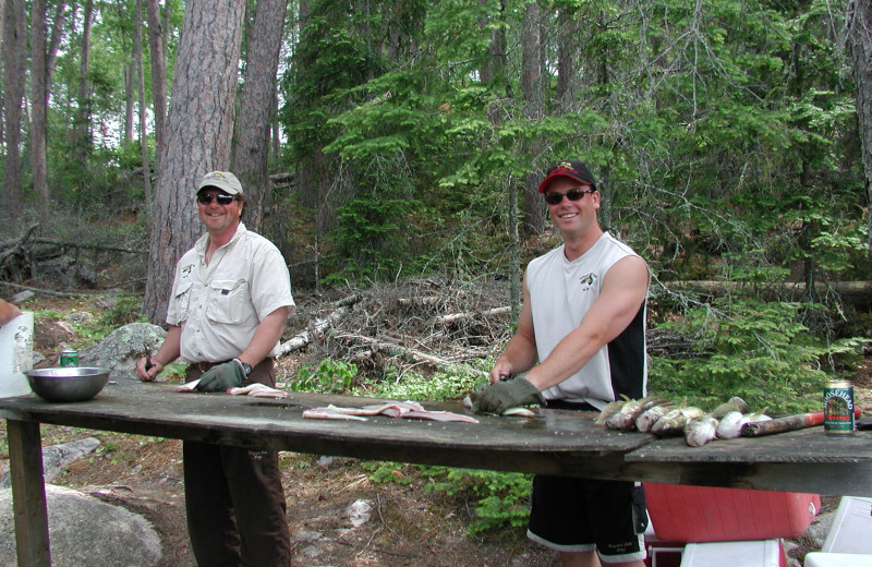
[[[39,423],[7,420],[19,567],[50,567]]]

